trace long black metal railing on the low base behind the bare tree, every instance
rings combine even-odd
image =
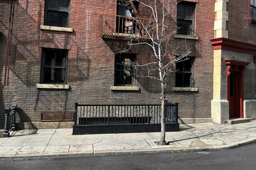
[[[75,103],[74,125],[160,124],[160,104],[81,105]],[[178,123],[178,103],[166,102],[166,123]]]

